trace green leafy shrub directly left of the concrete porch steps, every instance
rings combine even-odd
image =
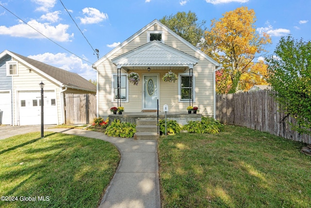
[[[108,136],[131,138],[136,132],[136,125],[128,122],[114,120],[110,126],[106,128],[105,134]]]

